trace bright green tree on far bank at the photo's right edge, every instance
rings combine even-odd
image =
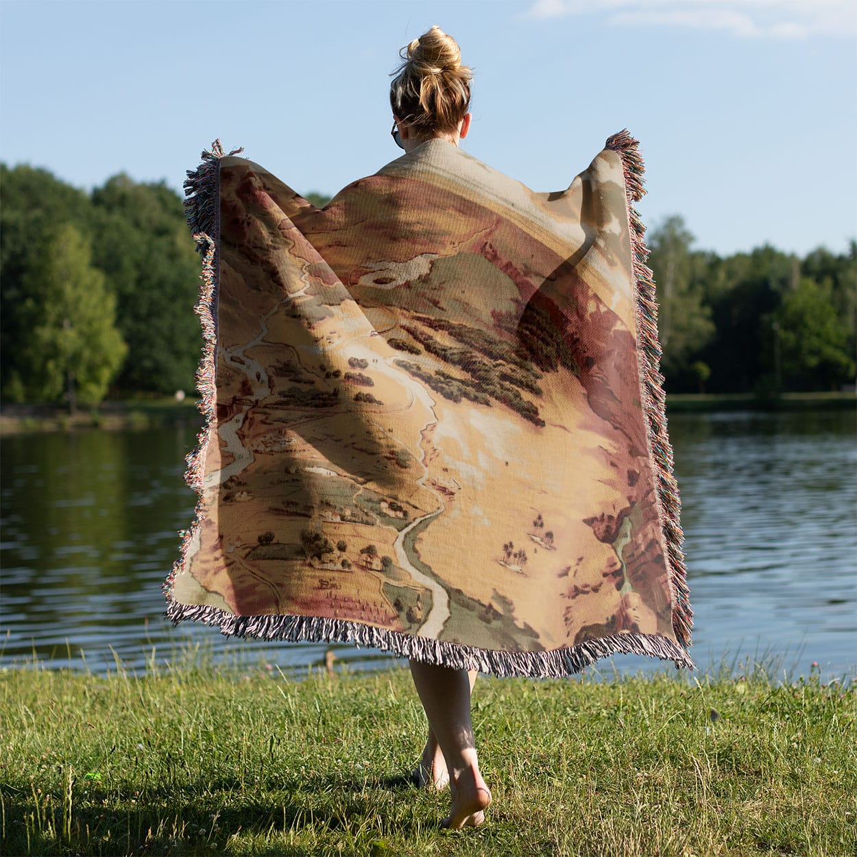
[[[854,360],[846,350],[848,326],[836,312],[831,291],[829,281],[819,285],[805,277],[774,314],[788,387],[835,389],[854,380]]]

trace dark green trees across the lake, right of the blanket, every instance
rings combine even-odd
[[[668,392],[809,392],[854,383],[854,242],[847,254],[817,249],[803,262],[767,245],[720,258],[692,249],[676,216],[648,240]]]

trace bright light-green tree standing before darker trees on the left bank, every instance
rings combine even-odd
[[[22,278],[21,389],[29,399],[68,397],[74,411],[104,399],[127,352],[114,326],[116,300],[91,264],[89,242],[65,224],[40,248]]]

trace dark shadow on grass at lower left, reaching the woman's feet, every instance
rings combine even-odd
[[[201,794],[204,791],[207,794]],[[73,794],[22,794],[0,786],[5,815],[4,854],[211,854],[222,853],[233,836],[254,840],[253,854],[317,854],[290,846],[294,834],[334,838],[367,847],[380,831],[367,818],[382,810],[395,815],[399,835],[440,828],[415,812],[415,800],[394,792],[420,790],[409,776],[355,778],[308,775],[299,780],[248,784],[234,780],[186,783],[146,790],[134,799],[93,788]],[[62,800],[62,802],[60,802]],[[345,853],[350,853],[346,850]]]

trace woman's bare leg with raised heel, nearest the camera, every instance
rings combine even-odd
[[[443,824],[452,828],[482,824],[491,793],[476,757],[470,722],[470,676],[464,669],[419,661],[411,661],[411,675],[446,760],[452,810]]]

